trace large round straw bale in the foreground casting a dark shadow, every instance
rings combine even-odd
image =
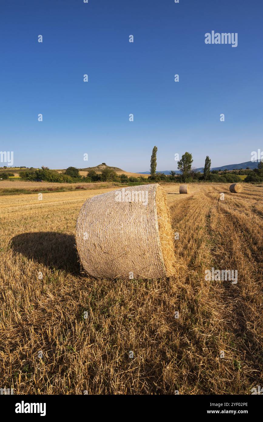
[[[78,215],[76,244],[91,276],[172,276],[174,234],[164,190],[147,184],[87,199]]]

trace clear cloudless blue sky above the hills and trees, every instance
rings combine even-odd
[[[157,170],[176,170],[175,153],[191,152],[198,168],[207,154],[215,167],[263,150],[262,1],[14,0],[0,9],[0,150],[14,151],[14,165],[146,171],[156,145]],[[237,32],[238,46],[205,44],[212,30]]]

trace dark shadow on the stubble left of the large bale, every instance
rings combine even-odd
[[[64,233],[22,233],[11,239],[11,249],[48,268],[80,273],[75,237]]]

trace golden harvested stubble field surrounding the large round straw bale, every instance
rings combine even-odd
[[[250,394],[262,386],[263,187],[228,189],[198,184],[179,195],[179,185],[166,187],[180,236],[180,271],[168,281],[81,273],[75,222],[95,190],[43,201],[2,196],[0,386],[15,394]],[[238,283],[205,281],[212,267],[237,269]]]

